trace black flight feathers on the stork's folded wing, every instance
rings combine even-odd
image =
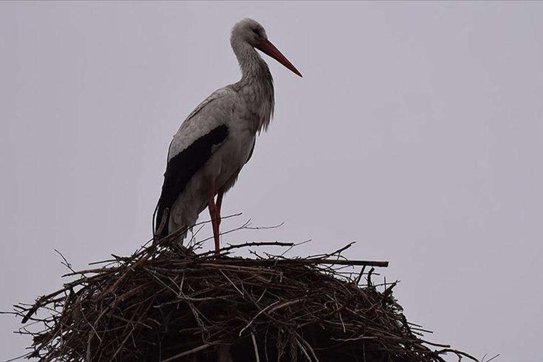
[[[155,231],[157,231],[162,221],[162,214],[165,209],[168,208],[171,210],[173,203],[179,194],[183,192],[187,182],[209,160],[213,153],[213,147],[222,143],[226,136],[228,136],[228,126],[225,124],[220,125],[208,134],[198,138],[190,146],[168,161],[166,173],[164,174],[162,193],[160,194],[159,203],[156,206]],[[168,234],[168,221],[165,220],[165,226],[160,236],[164,237]]]

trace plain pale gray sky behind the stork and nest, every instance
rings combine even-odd
[[[172,135],[239,78],[243,17],[304,78],[266,58],[275,119],[225,196],[223,230],[285,225],[223,243],[357,240],[428,339],[539,361],[541,2],[0,3],[0,309],[60,286],[54,248],[84,268],[150,237]]]

